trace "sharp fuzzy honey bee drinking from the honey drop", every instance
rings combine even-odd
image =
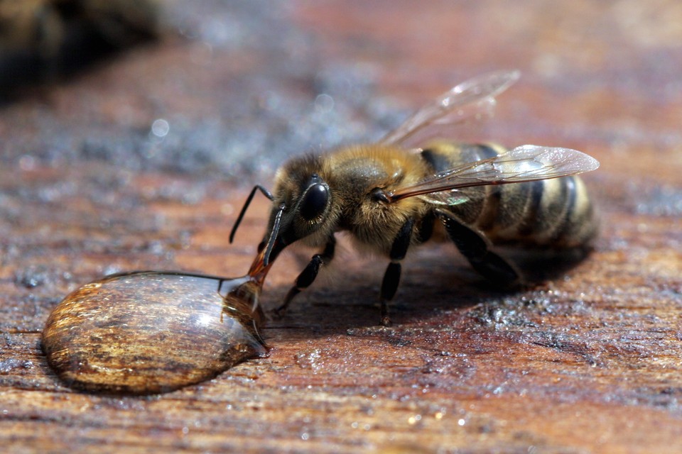
[[[269,192],[272,209],[254,268],[269,267],[286,246],[318,248],[278,311],[313,283],[334,257],[335,233],[347,231],[361,250],[389,259],[381,283],[381,323],[398,288],[401,260],[436,229],[450,238],[482,276],[505,287],[521,282],[515,265],[492,250],[509,243],[536,248],[584,248],[597,223],[585,185],[576,177],[599,167],[568,148],[431,140],[452,126],[489,114],[495,96],[519,72],[494,72],[457,85],[416,112],[378,143],[303,155],[286,162]],[[445,127],[445,128],[444,128]],[[420,145],[418,145],[420,144]]]

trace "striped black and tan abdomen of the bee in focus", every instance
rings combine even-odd
[[[442,172],[505,153],[499,145],[434,143],[422,156]],[[597,224],[585,184],[577,176],[467,189],[470,201],[448,209],[493,243],[572,248],[586,245]]]

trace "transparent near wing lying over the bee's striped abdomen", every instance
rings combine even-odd
[[[522,145],[503,155],[453,167],[421,182],[401,187],[387,194],[391,201],[406,197],[445,192],[433,198],[440,203],[450,200],[458,204],[467,201],[467,187],[491,184],[532,182],[538,179],[566,177],[590,172],[599,162],[590,155],[569,148]],[[437,202],[434,202],[437,203]]]

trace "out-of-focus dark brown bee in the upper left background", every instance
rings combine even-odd
[[[0,0],[0,82],[53,77],[154,38],[159,16],[158,0]]]

